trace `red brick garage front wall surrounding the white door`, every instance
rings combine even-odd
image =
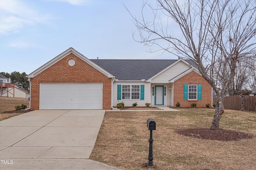
[[[74,66],[69,66],[68,61],[76,61]],[[64,59],[53,64],[40,74],[31,78],[31,110],[39,109],[40,83],[103,83],[103,109],[111,109],[111,78],[108,78],[88,63],[74,54],[66,56]]]

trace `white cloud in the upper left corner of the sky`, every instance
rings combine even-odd
[[[16,33],[25,25],[45,23],[47,20],[48,16],[42,16],[24,1],[0,1],[0,34]]]

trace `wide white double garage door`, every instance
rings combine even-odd
[[[41,83],[41,109],[102,109],[102,83]]]

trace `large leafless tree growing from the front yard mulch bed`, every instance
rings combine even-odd
[[[130,13],[140,35],[137,40],[134,35],[136,41],[198,64],[217,95],[210,129],[219,127],[224,93],[234,80],[238,62],[255,61],[255,4],[256,0],[156,0],[156,4],[143,3],[140,19]],[[146,9],[153,18],[148,19]],[[176,28],[179,32],[174,32]]]

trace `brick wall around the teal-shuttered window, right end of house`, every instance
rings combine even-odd
[[[202,100],[184,100],[184,84],[202,84]],[[192,71],[174,82],[174,106],[180,103],[180,107],[206,107],[205,104],[212,103],[212,87],[202,76]]]

